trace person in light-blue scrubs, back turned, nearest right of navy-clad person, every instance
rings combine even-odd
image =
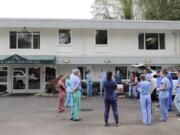
[[[138,91],[140,92],[140,104],[143,123],[151,125],[151,83],[146,80],[146,75],[141,75],[141,82],[138,84]]]

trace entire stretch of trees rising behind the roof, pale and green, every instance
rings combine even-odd
[[[180,20],[180,0],[95,0],[94,18]]]

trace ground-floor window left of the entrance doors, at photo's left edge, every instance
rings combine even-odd
[[[0,67],[0,91],[6,91],[8,85],[8,68]]]

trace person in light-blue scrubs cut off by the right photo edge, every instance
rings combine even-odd
[[[178,81],[176,85],[176,96],[174,98],[174,105],[177,109],[177,116],[180,116],[180,70],[177,71]]]

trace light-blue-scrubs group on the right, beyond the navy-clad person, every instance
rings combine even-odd
[[[176,97],[174,100],[175,106],[180,116],[180,70],[177,71],[178,84],[176,86]],[[168,121],[168,111],[172,111],[172,90],[173,83],[171,74],[167,72],[167,69],[162,69],[157,72],[157,84],[156,90],[159,97],[160,105],[160,121]],[[141,75],[141,81],[137,84],[137,89],[140,92],[140,104],[143,117],[143,123],[145,125],[151,125],[151,80],[148,74]]]

